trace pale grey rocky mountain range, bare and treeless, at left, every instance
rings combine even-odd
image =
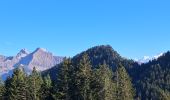
[[[36,67],[38,71],[44,71],[59,64],[62,60],[63,57],[54,56],[43,48],[37,48],[33,52],[22,49],[16,56],[0,55],[0,76],[3,79],[6,78],[16,67],[24,67],[28,74],[33,67]]]

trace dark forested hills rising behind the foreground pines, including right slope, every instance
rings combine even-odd
[[[170,52],[163,54],[158,59],[140,65],[131,59],[121,57],[111,46],[102,45],[90,48],[74,56],[71,59],[72,63],[76,65],[84,54],[89,56],[92,69],[98,68],[99,64],[105,62],[115,72],[116,66],[121,63],[131,78],[136,90],[136,98],[143,100],[169,98]],[[51,77],[56,79],[56,74],[54,73],[57,69],[58,66],[53,67],[47,73],[51,73]]]

